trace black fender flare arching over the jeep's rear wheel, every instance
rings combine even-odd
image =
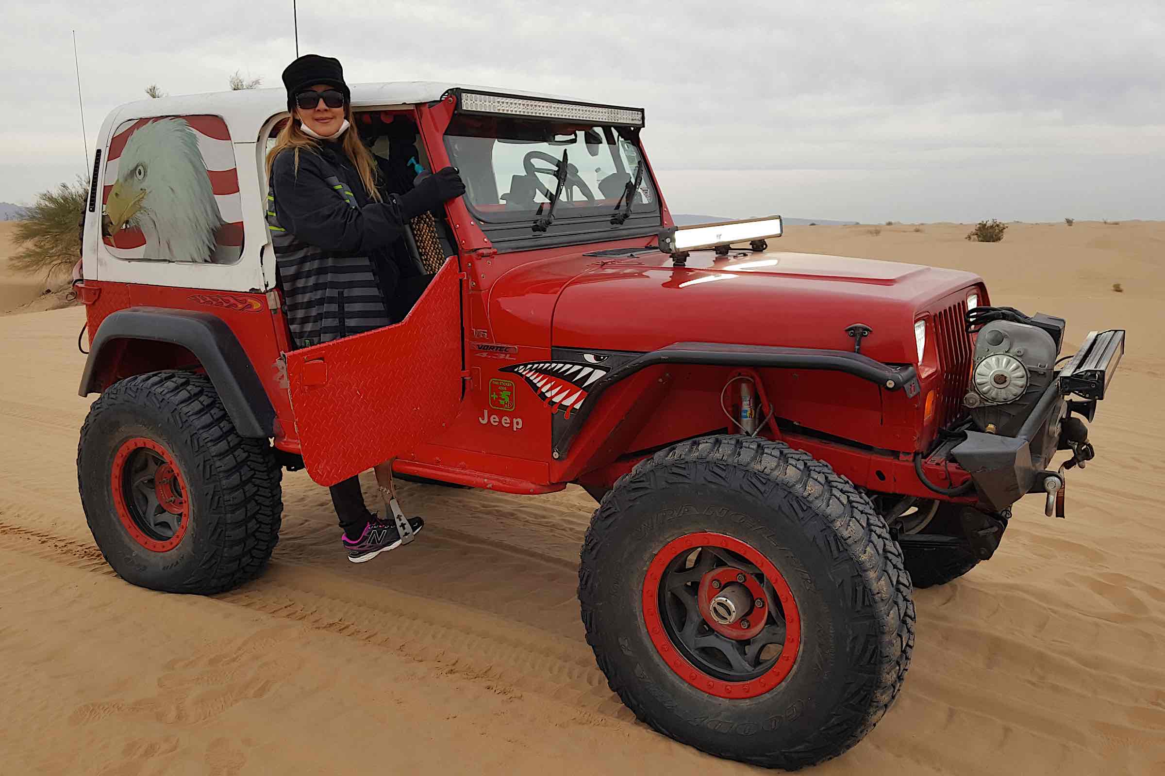
[[[93,337],[77,391],[82,397],[99,390],[96,372],[101,353],[116,340],[182,346],[206,370],[240,436],[268,439],[275,435],[275,407],[239,339],[223,319],[211,313],[165,307],[128,307],[111,313]]]

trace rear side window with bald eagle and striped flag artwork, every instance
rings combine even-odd
[[[127,121],[110,141],[101,234],[118,258],[233,264],[242,254],[234,148],[219,116]]]

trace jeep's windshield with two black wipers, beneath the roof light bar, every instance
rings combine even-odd
[[[566,178],[549,235],[595,232],[630,236],[659,228],[659,202],[647,169],[631,197],[629,218],[613,223],[627,208],[626,194],[642,156],[637,130],[544,120],[457,115],[445,133],[452,163],[465,180],[466,202],[482,228],[517,237],[517,227],[534,236],[532,223],[550,207],[556,175],[566,152]]]

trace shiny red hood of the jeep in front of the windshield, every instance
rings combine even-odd
[[[866,323],[873,334],[864,355],[910,363],[916,313],[982,284],[970,272],[842,256],[713,258],[692,254],[686,268],[672,268],[663,254],[593,258],[558,294],[553,346],[647,351],[697,341],[848,350],[846,327]]]

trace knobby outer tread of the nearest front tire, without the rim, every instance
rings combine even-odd
[[[708,464],[727,464],[709,477]],[[841,679],[842,703],[829,718],[799,743],[767,752],[742,754],[732,747],[730,735],[709,727],[687,725],[675,716],[661,719],[649,704],[651,693],[627,670],[617,654],[609,652],[603,634],[595,631],[595,613],[602,606],[601,556],[622,513],[663,483],[684,482],[697,486],[741,489],[760,494],[763,503],[779,508],[785,498],[811,505],[802,529],[832,555],[832,569],[849,569],[849,619],[846,663]],[[708,531],[714,531],[709,525]],[[595,511],[580,553],[579,601],[587,643],[594,650],[608,685],[642,721],[658,732],[709,754],[763,767],[796,770],[835,757],[857,743],[878,722],[902,688],[913,649],[915,605],[910,575],[902,550],[870,500],[828,464],[782,442],[741,435],[718,435],[690,440],[656,453],[615,483]],[[630,624],[629,624],[630,625]],[[622,645],[623,638],[620,638]],[[626,647],[623,648],[627,653]],[[802,660],[798,656],[798,661]],[[763,696],[762,696],[763,698]],[[758,698],[757,698],[758,699]],[[757,700],[754,699],[754,700]],[[742,702],[730,702],[742,703]],[[671,711],[670,707],[668,710]],[[743,736],[737,736],[743,740]]]

